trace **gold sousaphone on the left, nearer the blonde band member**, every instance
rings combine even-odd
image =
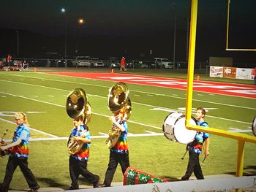
[[[82,117],[83,123],[87,124],[91,120],[91,105],[87,101],[86,91],[82,88],[75,88],[67,96],[66,102],[67,115],[70,118]],[[80,148],[83,147],[83,142],[75,142],[72,138],[68,139],[67,150],[70,155],[78,153]]]

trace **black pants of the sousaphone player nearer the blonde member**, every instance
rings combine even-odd
[[[69,157],[69,174],[71,177],[71,186],[72,189],[78,189],[78,177],[81,174],[83,177],[88,180],[89,183],[97,183],[99,181],[99,176],[92,174],[87,170],[87,161],[79,161],[73,157]]]

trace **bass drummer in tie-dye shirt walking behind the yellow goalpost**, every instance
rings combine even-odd
[[[195,117],[197,119],[197,126],[208,127],[208,124],[204,121],[204,117],[206,116],[206,110],[203,107],[198,107],[197,112],[195,113]],[[209,145],[210,145],[210,138],[208,133],[203,133],[197,131],[195,135],[194,141],[190,142],[187,145],[187,150],[189,150],[189,163],[187,165],[187,172],[181,180],[189,180],[189,177],[194,172],[195,177],[197,180],[203,180],[203,172],[199,163],[199,155],[202,153],[203,149],[203,142],[206,142],[206,148],[204,151],[205,156],[209,155]]]

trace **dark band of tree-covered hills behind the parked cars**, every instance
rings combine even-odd
[[[46,36],[31,31],[2,28],[0,43],[0,57],[11,54],[21,58],[45,58],[45,53],[59,53],[64,57],[64,35]],[[118,37],[67,34],[68,58],[89,55],[101,59],[125,56],[135,60],[150,60],[154,57],[173,60],[173,47],[173,34]],[[255,52],[225,51],[225,34],[205,35],[202,30],[197,30],[195,60],[204,62],[210,56],[232,57],[234,63],[239,64],[256,63]],[[175,59],[187,61],[187,31],[176,31]]]

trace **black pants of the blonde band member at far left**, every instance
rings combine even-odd
[[[12,175],[15,172],[17,166],[20,166],[20,170],[23,173],[26,182],[29,185],[29,188],[37,187],[37,180],[34,177],[34,174],[29,169],[28,159],[27,158],[17,158],[17,157],[9,157],[7,168],[5,171],[4,183],[1,188],[1,191],[8,191],[9,185],[12,181]]]

